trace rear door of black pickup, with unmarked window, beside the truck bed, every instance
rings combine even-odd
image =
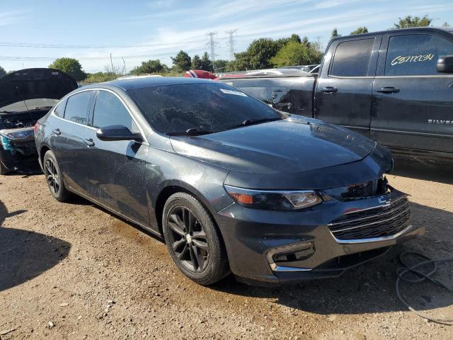
[[[369,137],[372,85],[382,35],[334,40],[323,60],[314,116]]]

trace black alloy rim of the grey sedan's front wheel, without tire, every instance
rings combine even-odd
[[[168,216],[168,239],[180,263],[189,271],[204,271],[209,261],[207,237],[188,208],[174,207]]]

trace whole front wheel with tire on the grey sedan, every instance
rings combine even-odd
[[[219,230],[197,198],[188,193],[170,196],[162,227],[168,252],[185,276],[200,285],[212,285],[229,273]]]

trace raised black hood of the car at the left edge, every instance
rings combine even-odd
[[[0,108],[37,98],[60,99],[77,82],[58,69],[21,69],[0,78]]]

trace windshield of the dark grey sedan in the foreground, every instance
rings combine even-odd
[[[284,118],[258,99],[222,83],[133,89],[134,101],[151,126],[164,134],[199,134]]]

